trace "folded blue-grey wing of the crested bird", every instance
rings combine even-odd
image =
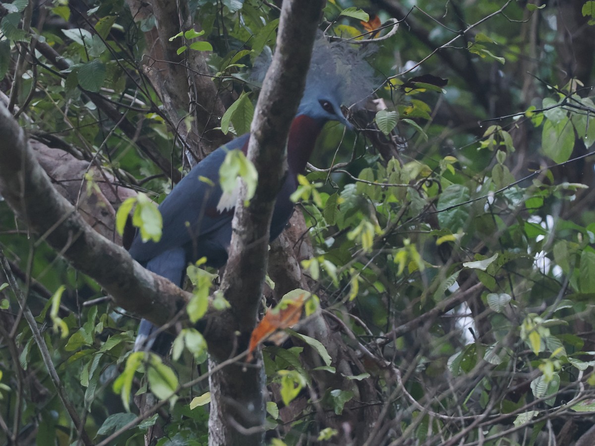
[[[248,143],[248,138],[249,134],[245,134],[219,147],[190,170],[159,205],[163,218],[161,239],[156,243],[143,243],[137,233],[129,250],[134,259],[146,262],[167,250],[185,246],[231,224],[234,209],[224,212],[217,209],[222,194],[219,168],[228,150],[242,149]]]

